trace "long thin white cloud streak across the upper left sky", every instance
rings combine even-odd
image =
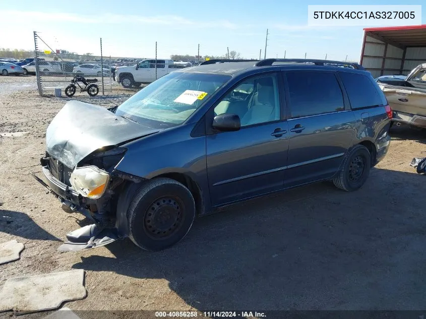
[[[144,25],[170,25],[174,27],[191,26],[194,28],[220,27],[223,29],[236,29],[238,26],[226,20],[219,21],[195,21],[174,15],[138,16],[120,14],[82,15],[73,13],[45,13],[38,11],[6,10],[4,17],[20,17],[24,21],[61,21],[81,24],[121,24],[123,22]]]

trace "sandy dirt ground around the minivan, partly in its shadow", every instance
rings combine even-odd
[[[392,130],[388,155],[354,193],[325,182],[233,205],[160,252],[130,240],[58,252],[83,217],[30,172],[67,99],[39,97],[34,79],[0,77],[0,133],[28,132],[0,139],[0,242],[25,243],[19,261],[0,265],[0,286],[84,269],[88,294],[65,304],[73,310],[426,309],[426,176],[408,165],[426,156],[424,132]]]

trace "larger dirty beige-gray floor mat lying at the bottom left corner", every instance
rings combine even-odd
[[[84,270],[76,269],[8,279],[0,292],[0,312],[15,314],[58,308],[64,301],[86,297]]]

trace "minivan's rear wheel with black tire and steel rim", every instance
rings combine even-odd
[[[363,145],[355,145],[347,154],[343,168],[333,178],[337,188],[352,192],[359,189],[367,180],[371,168],[371,154]]]

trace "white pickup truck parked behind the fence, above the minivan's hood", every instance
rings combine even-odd
[[[144,59],[136,66],[117,67],[115,81],[121,83],[125,88],[140,87],[143,83],[151,83],[156,79],[182,69],[185,66],[174,65],[173,60],[157,59],[157,74],[155,74],[155,59]]]

